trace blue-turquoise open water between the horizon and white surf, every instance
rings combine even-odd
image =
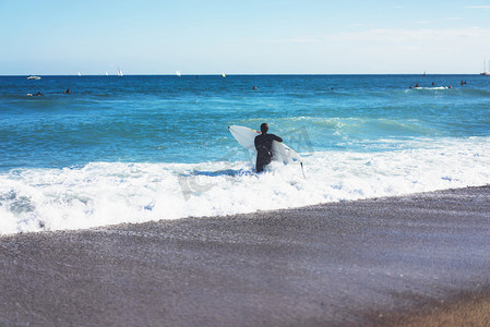
[[[471,75],[0,77],[0,169],[213,161],[235,146],[228,125],[259,129],[263,121],[276,134],[307,129],[315,150],[382,150],[414,137],[487,136],[489,81]],[[417,82],[453,89],[408,88]],[[68,87],[72,94],[62,94]],[[44,96],[26,96],[37,92]]]

